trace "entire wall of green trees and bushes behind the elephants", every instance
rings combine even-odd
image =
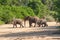
[[[45,16],[47,20],[60,20],[60,0],[0,0],[0,24],[14,17]]]

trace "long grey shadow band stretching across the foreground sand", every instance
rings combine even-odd
[[[52,36],[55,35],[54,32],[56,31],[18,32],[0,35],[0,37]]]

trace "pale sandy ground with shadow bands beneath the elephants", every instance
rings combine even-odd
[[[0,40],[60,40],[60,34],[54,34],[60,24],[48,22],[48,27],[13,28],[12,24],[0,25]]]

